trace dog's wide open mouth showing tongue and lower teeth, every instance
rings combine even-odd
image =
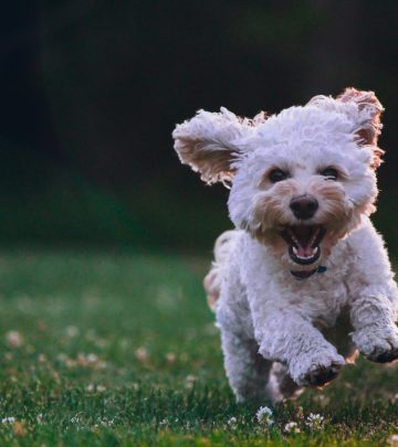
[[[321,256],[320,244],[325,233],[320,225],[294,225],[282,230],[281,236],[287,243],[289,255],[294,263],[311,265]]]

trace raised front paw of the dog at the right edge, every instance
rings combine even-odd
[[[362,329],[354,333],[353,340],[359,352],[373,362],[387,363],[398,359],[398,329],[396,327]]]

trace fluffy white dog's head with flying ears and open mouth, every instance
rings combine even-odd
[[[231,184],[235,226],[305,278],[375,211],[381,111],[374,93],[347,88],[270,117],[200,110],[172,136],[203,181]]]

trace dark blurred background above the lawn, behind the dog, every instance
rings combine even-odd
[[[179,164],[175,124],[355,86],[386,107],[375,221],[398,253],[397,19],[396,1],[9,2],[0,242],[209,251],[228,192]]]

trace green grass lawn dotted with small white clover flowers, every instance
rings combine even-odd
[[[398,365],[359,360],[273,408],[271,426],[237,405],[201,288],[209,260],[0,252],[0,445],[383,446],[398,434]]]

